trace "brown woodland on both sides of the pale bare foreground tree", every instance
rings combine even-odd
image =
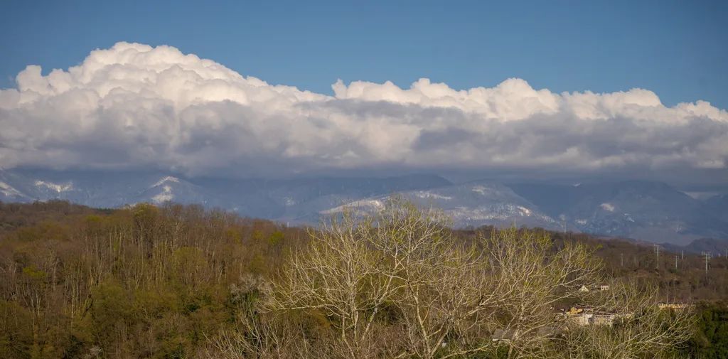
[[[258,315],[252,308],[261,283],[278,278],[312,233],[198,205],[0,203],[0,358],[235,358],[230,345],[258,332],[250,317]],[[469,243],[497,233],[483,227],[452,235]],[[665,252],[658,261],[649,246],[549,235],[555,248],[590,248],[605,278],[654,285],[663,301],[697,304],[694,334],[676,358],[728,358],[727,259],[711,259],[705,272],[700,256],[676,261]],[[402,315],[391,307],[382,311]],[[277,325],[298,326],[305,336],[337,326],[331,315],[285,315]],[[263,358],[244,352],[237,357]]]

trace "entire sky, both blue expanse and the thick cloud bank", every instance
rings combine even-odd
[[[728,1],[2,10],[4,168],[728,184]]]

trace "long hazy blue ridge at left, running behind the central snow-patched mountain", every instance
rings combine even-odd
[[[316,223],[320,211],[365,197],[449,185],[437,175],[230,180],[189,179],[167,173],[0,170],[0,200],[4,202],[59,199],[117,208],[172,201],[292,223]]]

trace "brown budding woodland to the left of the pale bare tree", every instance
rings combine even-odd
[[[0,205],[0,358],[191,358],[234,326],[232,285],[301,229],[200,206]]]

